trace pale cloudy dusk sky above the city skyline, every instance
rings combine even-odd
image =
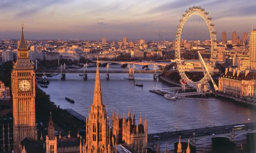
[[[0,0],[0,39],[174,40],[182,14],[201,6],[217,38],[256,28],[256,0]]]

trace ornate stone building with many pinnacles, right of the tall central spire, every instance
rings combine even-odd
[[[112,114],[112,134],[113,143],[124,143],[133,153],[147,152],[147,119],[145,117],[144,125],[140,114],[140,122],[135,124],[135,114],[131,117],[130,110],[128,118],[124,114],[122,119],[119,119],[119,114]]]

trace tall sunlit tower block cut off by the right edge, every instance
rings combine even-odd
[[[256,70],[256,29],[250,32],[250,69]]]

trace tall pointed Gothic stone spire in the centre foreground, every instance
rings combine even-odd
[[[93,104],[86,119],[86,144],[83,153],[111,153],[110,118],[102,102],[97,61]]]

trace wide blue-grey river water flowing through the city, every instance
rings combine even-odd
[[[104,67],[100,67],[104,69]],[[137,66],[141,68],[141,66]],[[91,68],[91,69],[95,69]],[[111,69],[121,69],[120,65],[111,65]],[[231,125],[256,122],[256,111],[252,108],[243,107],[233,102],[216,99],[216,101],[180,99],[171,101],[163,96],[149,92],[154,87],[170,87],[161,81],[154,81],[153,74],[135,74],[135,83],[143,83],[144,87],[134,86],[134,81],[128,80],[128,74],[110,74],[106,80],[106,74],[100,74],[103,103],[107,107],[111,117],[113,109],[119,110],[119,116],[128,109],[135,112],[137,121],[142,113],[148,120],[148,133],[164,131],[195,129],[206,126]],[[42,88],[51,96],[51,101],[60,108],[71,108],[85,117],[88,116],[88,107],[93,102],[93,89],[95,74],[88,74],[88,79],[83,80],[78,74],[66,74],[66,80],[60,80],[60,75],[49,78],[48,88]],[[67,102],[64,97],[68,96],[75,101],[74,104]],[[236,152],[240,153],[240,143],[246,146],[246,136],[236,139]],[[173,144],[168,145],[173,149]],[[211,153],[211,140],[197,145],[203,147],[204,153]]]

